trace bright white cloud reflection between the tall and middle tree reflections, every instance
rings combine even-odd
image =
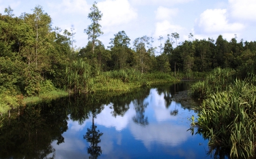
[[[107,105],[104,107],[101,113],[94,119],[95,123],[106,127],[115,127],[118,131],[123,130],[128,125],[131,117],[135,114],[133,105],[130,104],[130,109],[126,111],[123,117],[116,116],[116,118],[112,116],[111,111],[113,111],[113,109],[111,109],[110,106],[111,105]]]

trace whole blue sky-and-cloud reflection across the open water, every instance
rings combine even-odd
[[[130,109],[124,116],[113,116],[113,103],[104,105],[104,109],[94,118],[94,124],[103,135],[98,144],[102,149],[99,158],[205,158],[207,141],[199,135],[191,136],[188,118],[196,115],[182,108],[180,103],[165,101],[166,94],[151,89],[146,99],[130,102]],[[138,107],[144,107],[143,111]],[[177,110],[176,116],[171,111]],[[137,118],[147,118],[148,124],[134,122]],[[90,128],[92,118],[83,124],[68,120],[68,130],[63,133],[65,142],[57,145],[53,142],[56,158],[88,158],[89,143],[83,135]],[[208,157],[206,157],[208,158]]]

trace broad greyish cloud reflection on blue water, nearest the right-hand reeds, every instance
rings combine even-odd
[[[148,126],[139,126],[131,122],[130,131],[135,139],[143,141],[145,147],[150,149],[152,142],[163,145],[177,146],[181,145],[190,133],[185,126],[171,125],[169,123],[150,124]]]

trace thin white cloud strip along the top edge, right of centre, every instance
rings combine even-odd
[[[175,5],[178,3],[188,3],[194,0],[131,0],[135,5]]]

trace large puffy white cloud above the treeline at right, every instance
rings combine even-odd
[[[205,10],[196,20],[196,33],[223,34],[238,33],[244,29],[244,25],[238,22],[229,23],[227,10]]]

